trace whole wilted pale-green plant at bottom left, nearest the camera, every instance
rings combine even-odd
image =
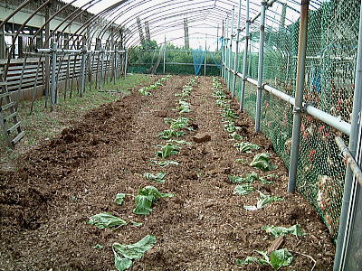
[[[130,245],[113,243],[114,264],[117,270],[124,271],[129,269],[133,265],[132,260],[143,257],[149,249],[156,245],[156,242],[157,240],[154,236],[148,235],[137,243]]]

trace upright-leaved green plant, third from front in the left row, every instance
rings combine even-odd
[[[135,197],[136,208],[134,213],[139,215],[148,215],[152,211],[153,204],[159,198],[172,198],[174,195],[170,193],[160,193],[154,186],[146,186],[138,191],[138,196]]]

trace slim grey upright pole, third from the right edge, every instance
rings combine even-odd
[[[264,68],[264,40],[265,40],[265,11],[266,0],[262,0],[261,25],[260,25],[260,46],[259,46],[259,64],[258,64],[258,91],[256,95],[256,115],[255,132],[260,132],[260,122],[262,115],[262,72]]]

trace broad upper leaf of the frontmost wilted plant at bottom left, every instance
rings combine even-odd
[[[151,248],[156,245],[156,238],[154,236],[148,235],[145,238],[142,238],[137,243],[130,245],[121,245],[119,243],[114,243],[112,248],[115,254],[121,255],[129,260],[139,259]]]

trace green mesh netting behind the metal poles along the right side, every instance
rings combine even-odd
[[[304,101],[347,122],[350,122],[353,106],[359,8],[357,0],[324,1],[319,9],[310,11],[309,17]],[[289,11],[287,7],[287,14]],[[271,15],[265,26],[263,82],[294,96],[299,18],[282,25],[273,23],[282,21],[281,14],[269,11],[267,14]],[[247,60],[247,74],[252,79],[258,78],[257,24],[252,25]],[[238,71],[242,72],[243,53],[239,62]],[[238,81],[240,93],[241,79]],[[256,87],[246,83],[244,110],[252,117],[255,117],[255,104]],[[262,132],[271,139],[274,150],[287,167],[292,117],[290,105],[265,91],[262,93]],[[302,118],[297,189],[319,211],[332,238],[337,238],[338,234],[346,173],[346,164],[334,142],[335,136],[340,134],[313,117]],[[348,142],[348,136],[344,139]]]

